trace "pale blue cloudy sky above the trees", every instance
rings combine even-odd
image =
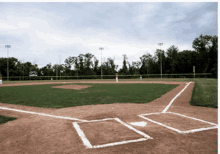
[[[140,61],[167,50],[193,50],[203,35],[218,36],[218,2],[0,3],[0,57],[38,64],[64,64],[69,56],[91,53],[101,63]]]

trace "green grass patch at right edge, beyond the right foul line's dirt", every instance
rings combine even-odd
[[[217,90],[217,79],[195,80],[190,104],[193,106],[218,108]]]

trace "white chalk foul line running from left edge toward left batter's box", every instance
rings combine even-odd
[[[36,115],[47,116],[47,117],[52,117],[52,118],[77,120],[77,121],[81,121],[81,122],[87,122],[87,120],[81,120],[81,119],[72,118],[72,117],[55,116],[55,115],[50,115],[50,114],[45,114],[45,113],[38,113],[38,112],[33,112],[33,111],[24,111],[24,110],[19,110],[19,109],[11,109],[11,108],[7,108],[7,107],[0,107],[0,109],[16,111],[16,112],[22,112],[22,113],[29,113],[29,114],[36,114]]]

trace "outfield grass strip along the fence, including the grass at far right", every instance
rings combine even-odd
[[[57,80],[55,82],[68,82],[68,81],[94,81],[91,80]],[[95,81],[115,81],[114,79],[100,80]],[[119,79],[120,81],[140,81],[137,79]],[[192,97],[190,104],[193,106],[203,106],[210,108],[218,108],[218,89],[217,89],[217,79],[205,79],[205,78],[144,78],[143,81],[184,81],[190,82],[194,81],[195,86],[193,89]],[[49,80],[41,81],[4,81],[4,83],[29,83],[29,82],[50,82]],[[0,88],[1,89],[1,88]],[[1,90],[0,90],[1,91]],[[1,100],[0,100],[1,102]]]

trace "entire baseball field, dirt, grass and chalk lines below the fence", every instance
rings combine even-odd
[[[0,153],[216,153],[216,79],[3,81]]]

